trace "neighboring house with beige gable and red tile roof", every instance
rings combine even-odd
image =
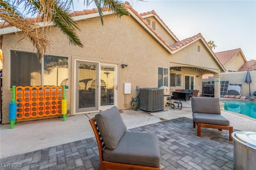
[[[227,72],[236,72],[246,62],[242,50],[233,49],[215,53],[220,63],[224,66]]]

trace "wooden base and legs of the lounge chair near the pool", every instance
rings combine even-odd
[[[193,127],[196,127],[196,122],[193,119]],[[232,126],[223,126],[223,125],[212,125],[212,124],[205,124],[205,123],[197,123],[197,135],[201,136],[201,127],[207,127],[212,129],[219,129],[219,130],[229,130],[229,140],[233,141],[231,134],[233,133],[233,127]]]

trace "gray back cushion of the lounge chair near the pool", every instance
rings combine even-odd
[[[192,98],[191,105],[193,113],[212,113],[220,115],[219,98]]]

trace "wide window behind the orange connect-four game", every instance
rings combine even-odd
[[[11,50],[10,55],[11,86],[68,88],[68,57],[46,55],[40,63],[36,53]]]

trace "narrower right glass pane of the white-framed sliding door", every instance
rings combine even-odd
[[[114,105],[115,67],[108,65],[100,66],[100,105]]]

